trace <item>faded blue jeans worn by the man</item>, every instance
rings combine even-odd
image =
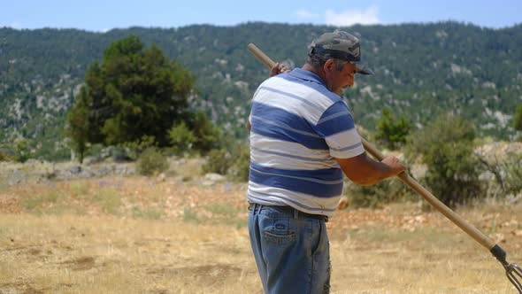
[[[324,220],[252,204],[249,235],[265,293],[329,292],[330,252]]]

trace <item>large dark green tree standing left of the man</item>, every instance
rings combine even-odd
[[[94,62],[68,116],[73,146],[85,143],[122,144],[153,136],[160,147],[169,143],[168,129],[190,117],[188,96],[195,78],[156,45],[145,49],[129,36],[104,51]],[[84,151],[84,150],[83,150]]]

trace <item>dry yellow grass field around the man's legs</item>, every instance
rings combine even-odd
[[[1,183],[0,293],[262,293],[245,189],[180,174]],[[522,263],[522,205],[458,213]],[[493,256],[418,204],[349,208],[328,227],[333,293],[515,293]]]

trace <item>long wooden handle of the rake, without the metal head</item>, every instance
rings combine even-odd
[[[262,50],[257,48],[257,46],[253,43],[249,43],[247,49],[261,62],[265,64],[266,67],[272,68],[275,65],[275,62],[271,58],[265,55]],[[364,138],[361,138],[363,145],[365,146],[365,151],[370,153],[373,158],[377,160],[384,159],[384,155],[372,146],[371,143],[368,143]],[[466,234],[472,236],[475,241],[477,241],[482,246],[486,247],[488,251],[491,251],[493,247],[495,247],[495,242],[491,240],[489,237],[480,232],[479,229],[473,227],[467,221],[465,221],[460,215],[452,211],[448,206],[444,205],[441,200],[434,197],[434,195],[426,190],[422,185],[420,185],[417,181],[411,178],[410,175],[406,173],[402,173],[398,175],[398,178],[401,179],[405,184],[410,186],[411,189],[415,190],[420,197],[423,197],[430,205],[434,206],[439,213],[442,213],[445,217],[452,221],[457,225],[458,228],[461,228]]]

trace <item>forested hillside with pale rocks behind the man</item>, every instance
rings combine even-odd
[[[358,76],[345,93],[356,121],[373,130],[383,108],[418,127],[441,112],[471,120],[480,135],[509,139],[522,104],[522,25],[503,29],[456,22],[342,28],[362,39],[375,75]],[[88,66],[113,41],[138,36],[193,74],[194,108],[230,135],[245,137],[249,98],[268,72],[246,50],[256,43],[274,60],[302,66],[306,46],[334,27],[247,23],[163,29],[131,27],[106,33],[75,29],[0,28],[0,146],[24,137],[35,155],[65,157],[65,114]],[[50,156],[52,154],[52,156]]]

